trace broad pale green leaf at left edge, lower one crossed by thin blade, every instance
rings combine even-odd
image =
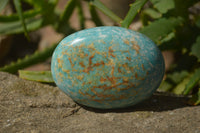
[[[33,31],[43,26],[42,18],[29,18],[25,20],[27,31]],[[14,21],[11,23],[0,23],[0,34],[17,34],[23,33],[24,29],[20,21]]]

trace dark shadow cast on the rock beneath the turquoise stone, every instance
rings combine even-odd
[[[134,111],[154,111],[162,112],[168,110],[174,110],[183,108],[187,105],[188,97],[177,96],[169,93],[156,92],[149,99],[138,103],[137,105],[119,108],[119,109],[96,109],[80,105],[84,109],[96,113],[123,113],[123,112],[134,112]]]

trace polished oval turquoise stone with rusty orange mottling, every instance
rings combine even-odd
[[[135,105],[159,87],[164,60],[141,33],[114,26],[82,30],[53,53],[57,86],[77,103],[111,109]]]

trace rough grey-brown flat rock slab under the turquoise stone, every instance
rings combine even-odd
[[[0,72],[0,132],[200,133],[200,107],[155,93],[125,109],[80,106],[57,87]]]

